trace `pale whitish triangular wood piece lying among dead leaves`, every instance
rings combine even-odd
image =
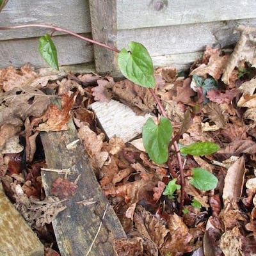
[[[150,114],[145,116],[136,115],[131,108],[116,100],[93,102],[90,107],[95,112],[108,138],[118,136],[124,142],[140,135],[147,118],[152,116]]]

